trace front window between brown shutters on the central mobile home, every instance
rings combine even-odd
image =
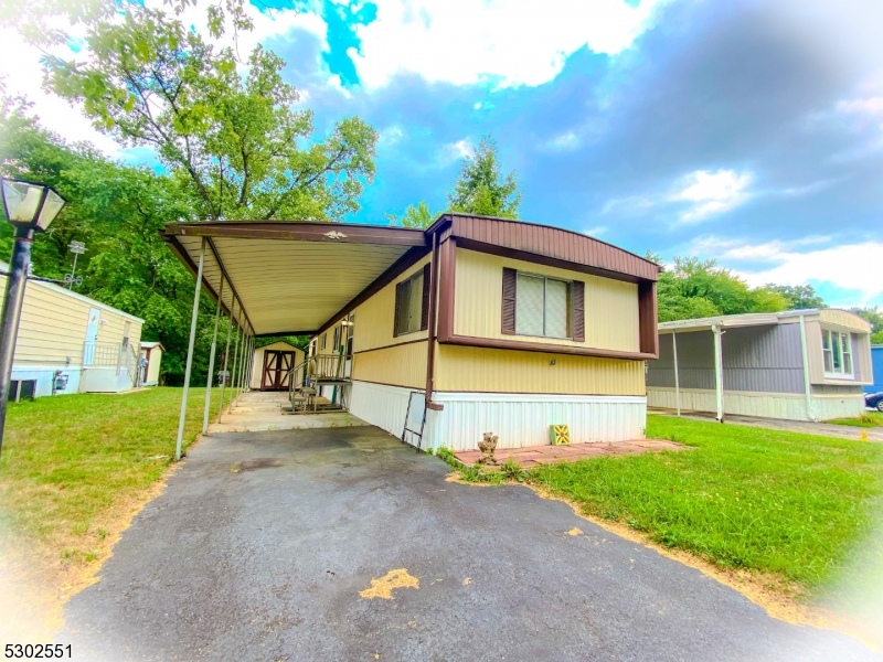
[[[570,338],[571,284],[519,273],[515,281],[515,333]]]

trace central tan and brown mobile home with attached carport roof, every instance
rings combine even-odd
[[[660,268],[637,255],[460,214],[425,231],[227,221],[163,237],[237,327],[310,335],[323,395],[422,448],[477,448],[488,431],[549,444],[551,425],[576,442],[643,436]]]

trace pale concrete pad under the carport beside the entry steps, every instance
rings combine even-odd
[[[221,416],[221,423],[209,426],[209,434],[257,433],[266,430],[302,430],[326,427],[352,427],[368,425],[349,412],[322,414],[285,414],[290,406],[287,391],[249,391],[233,401],[230,412]]]

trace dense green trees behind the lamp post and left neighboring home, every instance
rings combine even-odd
[[[67,145],[28,116],[23,99],[0,96],[0,174],[54,186],[68,202],[49,232],[38,234],[33,273],[61,279],[71,270],[71,239],[86,244],[77,261],[79,293],[143,318],[141,337],[167,352],[167,383],[184,374],[193,277],[159,236],[166,223],[193,214],[178,182],[146,168],[120,166],[88,145]],[[11,226],[0,223],[0,254],[11,249]],[[193,381],[204,383],[214,305],[203,295]],[[226,325],[221,327],[226,338]]]

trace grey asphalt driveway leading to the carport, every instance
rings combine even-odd
[[[203,439],[57,641],[108,661],[880,659],[564,503],[447,473],[369,426]],[[391,599],[360,595],[384,577]]]

